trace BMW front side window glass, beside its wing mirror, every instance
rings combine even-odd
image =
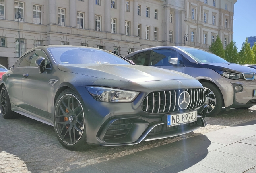
[[[182,56],[170,49],[151,50],[149,65],[151,66],[172,66],[169,64],[171,58],[178,58],[178,65],[183,64]]]

